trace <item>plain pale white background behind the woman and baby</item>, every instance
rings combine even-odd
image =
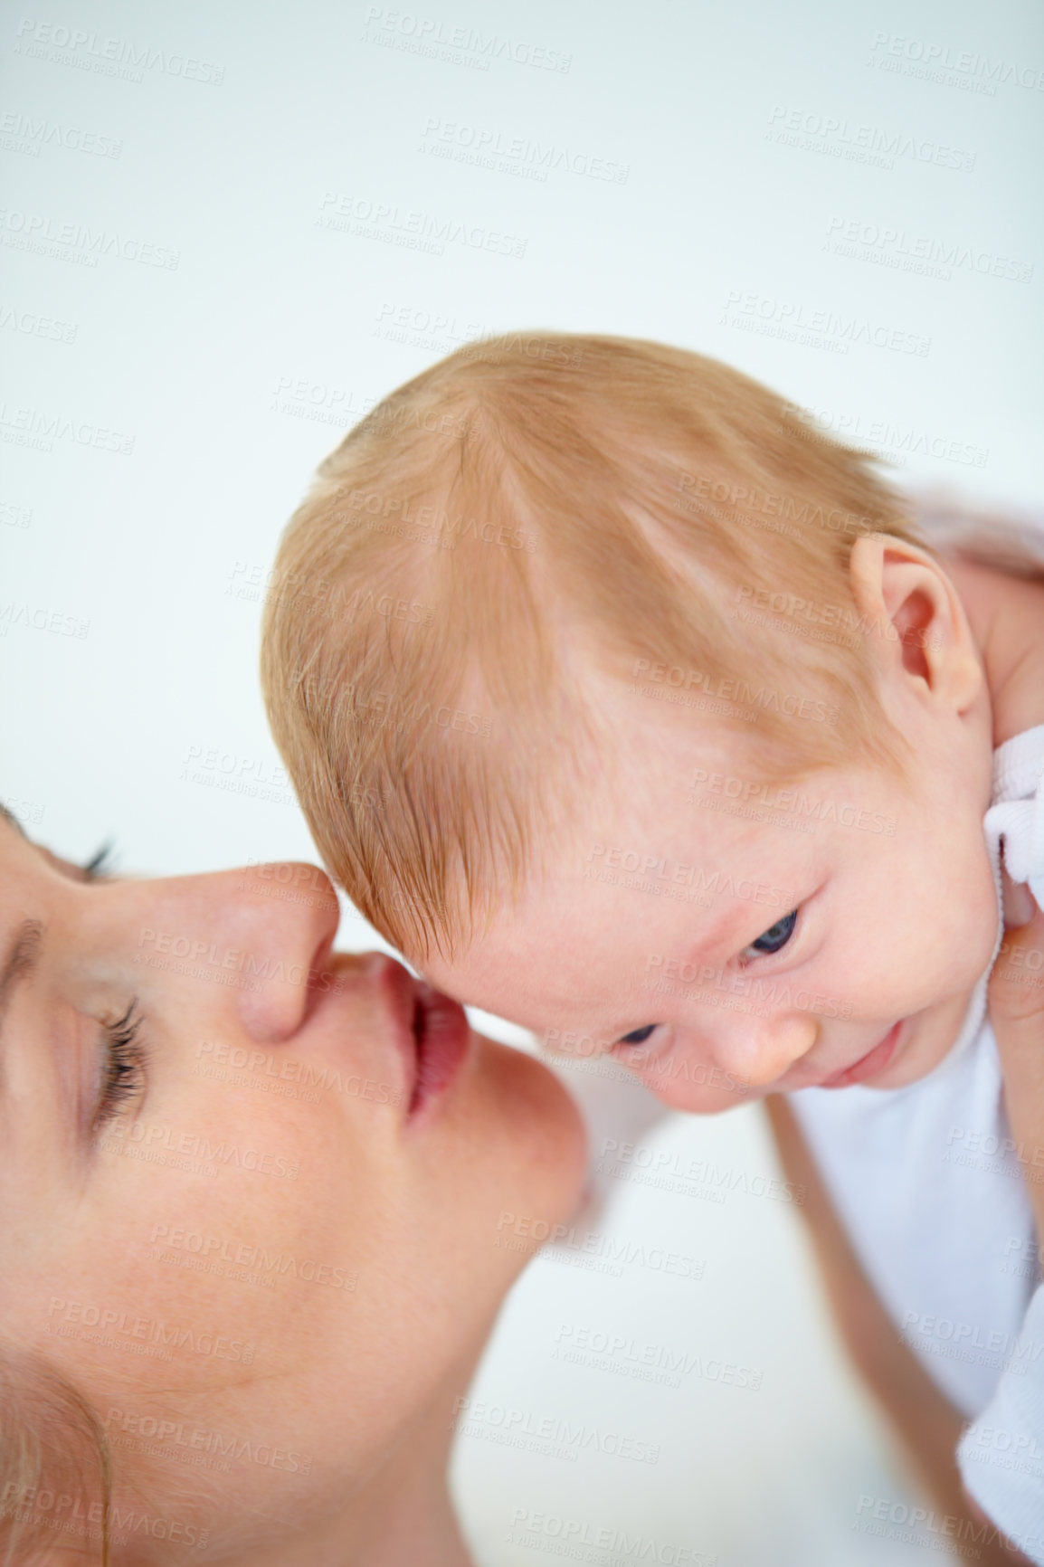
[[[475,334],[676,342],[904,478],[1039,503],[1042,31],[1030,0],[8,6],[0,798],[66,854],[113,835],[135,871],[310,857],[257,689],[265,572],[340,432]],[[337,212],[354,232],[317,221]],[[644,1111],[611,1084],[607,1106]],[[773,1169],[754,1111],[646,1144]],[[660,1460],[462,1442],[483,1564],[546,1559],[520,1511],[629,1531],[593,1559],[937,1559],[854,1529],[861,1498],[909,1495],[792,1208],[630,1185],[600,1233],[704,1277],[539,1260],[475,1396]],[[566,1365],[564,1324],[762,1388]]]

